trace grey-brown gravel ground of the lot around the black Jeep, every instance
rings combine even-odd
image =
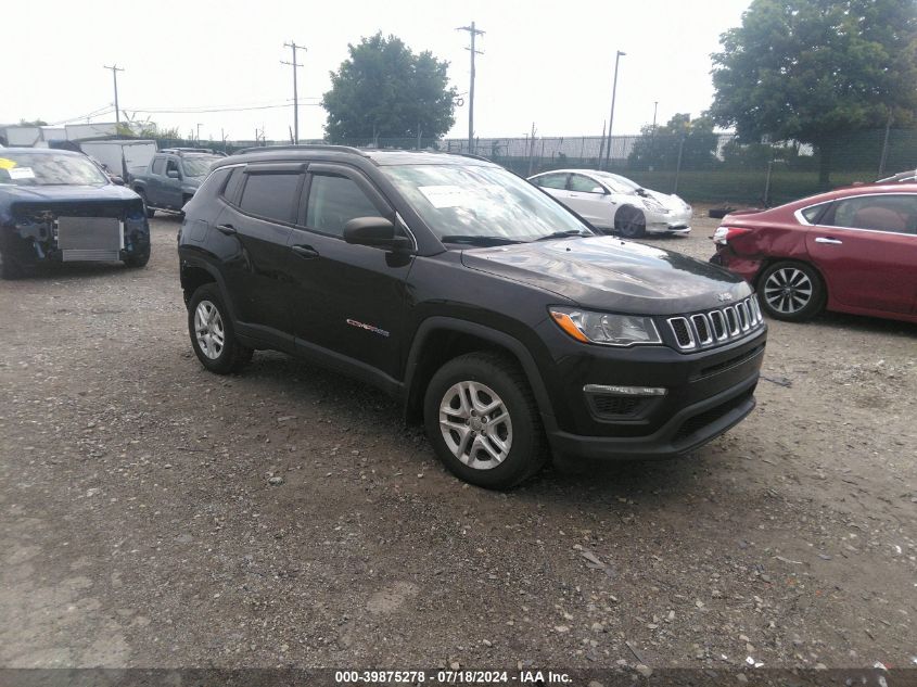
[[[0,283],[0,665],[917,661],[917,327],[772,323],[724,437],[495,494],[344,378],[205,372],[178,226]]]

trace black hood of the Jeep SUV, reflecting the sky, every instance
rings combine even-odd
[[[582,307],[640,315],[692,313],[751,293],[735,275],[642,243],[573,238],[464,251],[462,263],[532,284]]]

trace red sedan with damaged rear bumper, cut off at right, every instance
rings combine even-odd
[[[744,277],[776,319],[828,309],[917,322],[917,183],[735,212],[713,240],[711,262]]]

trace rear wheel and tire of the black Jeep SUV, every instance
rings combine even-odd
[[[243,346],[235,339],[232,319],[216,284],[199,287],[191,296],[188,304],[188,333],[194,354],[211,372],[228,374],[242,369],[252,359],[252,348]]]

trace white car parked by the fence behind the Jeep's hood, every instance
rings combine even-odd
[[[628,239],[645,233],[691,231],[693,211],[677,195],[645,189],[625,177],[595,169],[555,169],[530,177],[597,229]]]

